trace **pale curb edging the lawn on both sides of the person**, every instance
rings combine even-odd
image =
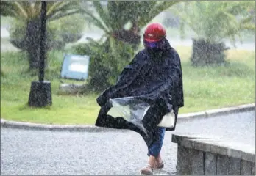
[[[180,114],[177,118],[177,123],[185,122],[195,119],[217,117],[225,114],[235,114],[239,112],[255,111],[255,103],[246,104],[241,106],[233,106],[230,108],[223,109],[212,109],[207,111],[200,111],[196,113]],[[15,122],[1,119],[1,128],[17,128],[26,130],[43,130],[43,131],[76,131],[76,132],[112,132],[120,131],[119,129],[113,128],[99,128],[95,125],[46,125],[30,122]],[[121,130],[128,131],[128,130]]]

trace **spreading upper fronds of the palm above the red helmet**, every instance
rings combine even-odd
[[[93,1],[99,18],[87,10],[84,12],[95,26],[110,34],[115,30],[123,29],[129,22],[132,23],[131,28],[136,26],[141,29],[160,12],[180,1],[108,1],[107,7],[102,6],[99,1]]]

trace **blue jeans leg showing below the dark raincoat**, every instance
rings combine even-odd
[[[151,146],[148,146],[148,156],[152,155],[157,157],[160,154],[160,151],[163,146],[163,139],[166,133],[166,128],[157,127],[157,130],[154,133],[154,139]]]

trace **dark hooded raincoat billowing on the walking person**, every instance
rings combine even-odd
[[[96,126],[116,129],[129,129],[141,134],[148,146],[152,143],[152,135],[157,124],[163,116],[174,110],[174,128],[166,128],[166,131],[174,131],[177,121],[178,109],[184,106],[182,87],[182,67],[179,54],[168,40],[165,40],[165,48],[157,54],[146,49],[138,52],[132,62],[129,63],[117,83],[113,87],[104,90],[97,103],[101,106]],[[111,109],[110,98],[134,97],[149,103],[152,106],[143,119],[143,125],[149,131],[149,136],[123,117],[114,118],[107,115]]]

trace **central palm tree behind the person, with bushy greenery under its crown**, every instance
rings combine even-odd
[[[121,68],[132,59],[135,50],[141,43],[141,28],[152,21],[160,12],[168,7],[180,2],[174,1],[107,1],[107,4],[101,4],[100,1],[93,1],[93,7],[96,14],[84,10],[87,19],[104,31],[102,40],[93,41],[98,43],[102,49],[99,52],[111,54],[108,60],[102,64],[98,62],[100,57],[106,54],[99,54],[95,62],[92,62],[90,67],[95,68],[90,79],[90,84],[93,87],[104,89],[106,85],[113,84],[116,81]],[[93,45],[94,45],[93,44]],[[88,45],[90,47],[90,45]],[[79,46],[78,48],[82,48]],[[98,47],[99,48],[99,47]],[[93,49],[93,48],[92,48]],[[79,49],[78,49],[79,50]],[[79,50],[81,51],[81,50]],[[87,51],[84,54],[91,54],[93,51]],[[79,53],[82,54],[82,53]],[[105,58],[107,59],[107,58]],[[111,60],[111,62],[110,62]],[[108,71],[107,71],[108,70]],[[106,78],[106,73],[111,73],[109,78]],[[105,78],[100,79],[99,78]]]

